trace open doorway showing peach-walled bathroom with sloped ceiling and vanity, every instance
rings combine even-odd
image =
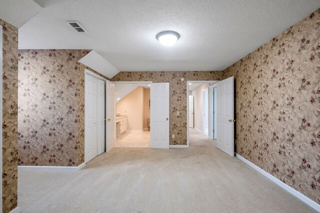
[[[114,146],[150,147],[150,83],[115,83]]]

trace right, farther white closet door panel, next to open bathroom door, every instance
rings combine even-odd
[[[103,80],[98,80],[98,104],[97,104],[97,117],[98,117],[98,155],[104,152],[105,149],[105,122],[104,122],[104,112],[105,112],[105,82]]]

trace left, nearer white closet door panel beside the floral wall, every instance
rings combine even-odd
[[[85,163],[97,156],[97,82],[85,75]]]

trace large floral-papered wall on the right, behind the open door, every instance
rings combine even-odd
[[[320,9],[224,70],[236,153],[320,204]]]

